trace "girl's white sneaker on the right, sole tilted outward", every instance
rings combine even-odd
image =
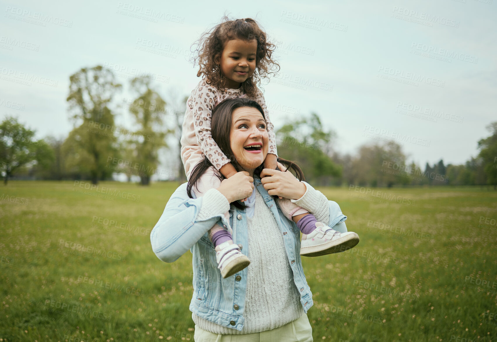
[[[301,256],[324,256],[343,252],[359,243],[359,236],[354,232],[340,233],[316,222],[316,229],[310,234],[302,234],[300,243]]]

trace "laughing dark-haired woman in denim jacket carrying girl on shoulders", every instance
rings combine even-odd
[[[313,341],[306,315],[313,300],[299,254],[300,231],[278,209],[273,196],[291,199],[340,233],[347,231],[346,216],[338,204],[290,171],[261,170],[268,150],[264,127],[264,112],[257,102],[246,98],[221,102],[212,115],[213,138],[239,172],[203,197],[190,198],[196,197],[188,196],[196,179],[211,170],[207,159],[199,163],[190,182],[171,195],[151,233],[152,249],[161,260],[173,262],[188,249],[193,254],[189,309],[197,342]],[[245,148],[253,143],[261,145],[259,153]],[[293,163],[280,162],[302,176]],[[239,201],[248,196],[254,198],[252,206]],[[207,235],[218,220],[231,227],[233,241],[251,261],[227,278],[221,276]]]

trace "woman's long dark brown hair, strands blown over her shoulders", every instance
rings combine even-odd
[[[231,164],[237,169],[237,171],[244,171],[240,164],[237,162],[235,155],[231,149],[231,141],[230,141],[230,133],[232,126],[232,113],[235,109],[240,107],[251,107],[257,109],[261,114],[264,120],[266,119],[264,115],[264,111],[262,107],[254,100],[245,97],[228,97],[221,101],[218,105],[216,105],[212,110],[212,119],[211,119],[211,133],[212,138],[218,144],[221,151],[231,160]],[[278,158],[278,162],[280,162],[287,170],[293,170],[296,174],[296,177],[299,180],[304,180],[304,173],[302,170],[293,162],[287,161],[282,158]],[[193,198],[191,194],[191,190],[193,186],[196,186],[197,181],[200,179],[200,176],[204,174],[205,171],[209,167],[213,166],[209,159],[205,158],[200,161],[190,174],[190,180],[188,181],[188,185],[186,186],[186,191],[188,192],[188,196]],[[260,175],[260,172],[264,169],[264,163],[255,168],[253,174]],[[217,177],[220,180],[224,179],[224,176],[221,172],[216,172]],[[277,197],[277,196],[274,196]],[[235,201],[233,204],[239,208],[245,208],[245,204],[243,202]]]

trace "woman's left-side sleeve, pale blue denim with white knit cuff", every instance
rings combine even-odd
[[[180,185],[150,233],[152,251],[165,262],[177,260],[219,219],[229,225],[224,216],[229,209],[228,200],[216,189],[210,189],[203,197],[189,198],[186,183]]]

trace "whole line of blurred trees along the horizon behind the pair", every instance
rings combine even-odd
[[[116,103],[123,85],[112,70],[102,66],[82,68],[70,76],[69,118],[73,129],[65,139],[47,136],[34,140],[35,131],[15,117],[0,123],[0,171],[7,184],[13,179],[88,180],[97,184],[124,173],[149,185],[154,174],[186,181],[179,157],[181,124],[188,96],[165,96],[150,76],[129,82],[132,100]],[[133,130],[115,123],[125,107]],[[296,161],[311,184],[371,187],[423,185],[493,185],[497,187],[497,122],[487,126],[491,135],[478,142],[477,157],[463,165],[444,165],[443,160],[424,171],[395,141],[364,144],[355,155],[333,149],[336,133],[324,129],[317,113],[284,124],[276,130],[281,158]],[[167,139],[176,141],[169,146]],[[159,152],[168,151],[174,171],[160,168]],[[158,172],[160,171],[160,172]]]

